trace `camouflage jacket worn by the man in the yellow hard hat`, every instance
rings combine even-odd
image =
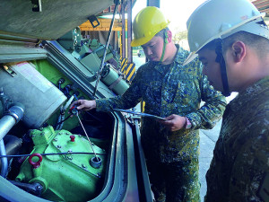
[[[198,158],[198,128],[212,128],[221,119],[226,106],[225,98],[213,90],[202,66],[195,60],[182,66],[189,52],[178,48],[174,62],[165,68],[148,62],[141,66],[128,90],[110,99],[97,100],[97,110],[131,109],[140,101],[145,102],[144,112],[168,117],[171,114],[187,116],[192,129],[170,132],[154,119],[143,118],[141,134],[143,149],[161,162],[178,162]],[[200,102],[204,106],[200,108]]]

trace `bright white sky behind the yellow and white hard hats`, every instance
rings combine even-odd
[[[169,29],[172,32],[187,30],[187,19],[195,11],[195,8],[203,4],[205,0],[160,0],[160,9],[169,20]],[[133,19],[135,15],[147,4],[146,0],[136,0],[133,7]]]

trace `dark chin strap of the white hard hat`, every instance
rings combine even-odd
[[[215,61],[221,65],[221,80],[223,86],[222,94],[227,97],[230,96],[230,89],[226,72],[226,64],[222,53],[222,40],[221,39],[219,40],[220,42],[218,41],[218,45],[215,48],[215,52],[217,54]]]

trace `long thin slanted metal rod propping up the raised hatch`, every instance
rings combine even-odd
[[[119,0],[116,0],[112,21],[110,23],[110,27],[109,27],[109,31],[108,31],[108,39],[107,39],[107,42],[106,42],[105,52],[104,52],[104,55],[103,55],[103,58],[102,58],[101,66],[100,66],[100,69],[99,69],[99,72],[98,72],[98,75],[97,75],[97,81],[95,83],[95,88],[94,88],[94,91],[93,91],[93,97],[95,96],[95,93],[97,91],[98,83],[100,82],[100,75],[101,75],[103,67],[104,67],[105,58],[106,58],[107,50],[108,50],[108,44],[109,44],[109,40],[110,40],[110,36],[111,36],[111,31],[112,31],[112,28],[113,28],[113,25],[114,25],[114,20],[115,20],[118,4],[119,4]]]

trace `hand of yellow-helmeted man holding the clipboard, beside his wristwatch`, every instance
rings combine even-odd
[[[180,117],[179,115],[172,114],[160,122],[161,124],[168,127],[171,131],[177,131],[185,126],[186,119],[185,117]]]

